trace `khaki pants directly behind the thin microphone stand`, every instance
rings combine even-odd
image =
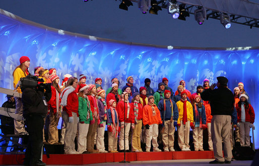
[[[130,132],[130,129],[131,123],[125,123],[125,150],[130,149],[128,146],[128,133]],[[119,132],[119,150],[124,150],[124,128],[120,128]]]

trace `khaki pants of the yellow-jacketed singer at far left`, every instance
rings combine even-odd
[[[15,114],[23,116],[23,104],[22,104],[22,98],[20,97],[15,97]],[[14,125],[15,125],[15,134],[26,133],[23,120],[14,119]]]

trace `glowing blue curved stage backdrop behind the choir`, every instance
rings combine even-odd
[[[232,91],[238,82],[244,83],[257,119],[259,48],[179,48],[125,43],[49,28],[3,10],[0,20],[1,87],[14,89],[12,73],[24,55],[31,59],[30,73],[34,73],[34,67],[43,66],[56,68],[61,79],[67,73],[75,77],[85,74],[86,83],[93,84],[100,77],[104,89],[111,86],[113,77],[119,79],[122,88],[128,76],[134,77],[138,88],[144,86],[145,78],[150,78],[151,87],[157,89],[166,77],[174,92],[179,81],[185,80],[186,89],[194,93],[205,78],[212,84],[217,82],[216,77],[225,76]],[[0,95],[2,104],[6,98]],[[255,120],[256,148],[258,126]]]

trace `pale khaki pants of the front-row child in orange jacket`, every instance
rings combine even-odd
[[[151,124],[149,129],[146,129],[146,149],[151,148],[151,140],[152,140],[153,149],[158,148],[157,137],[158,137],[158,124]]]

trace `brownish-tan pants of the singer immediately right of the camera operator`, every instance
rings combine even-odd
[[[48,126],[48,143],[54,144],[58,142],[58,120],[59,117],[53,115],[53,110],[50,109],[49,112],[49,126]]]

